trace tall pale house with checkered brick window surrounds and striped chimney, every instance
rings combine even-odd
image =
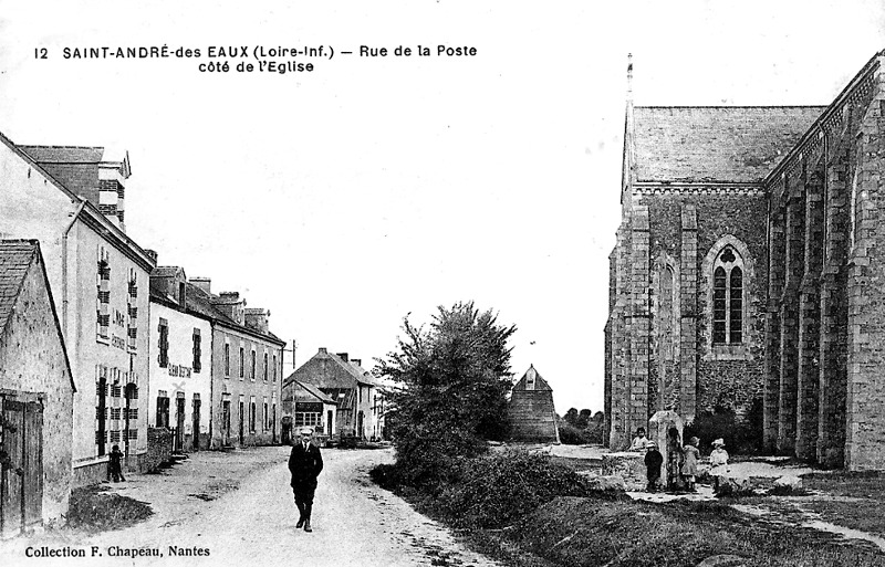
[[[118,439],[147,452],[147,281],[155,262],[124,232],[129,159],[101,147],[17,146],[0,134],[0,234],[37,239],[76,385],[74,485],[106,476]],[[143,391],[144,390],[144,391]]]

